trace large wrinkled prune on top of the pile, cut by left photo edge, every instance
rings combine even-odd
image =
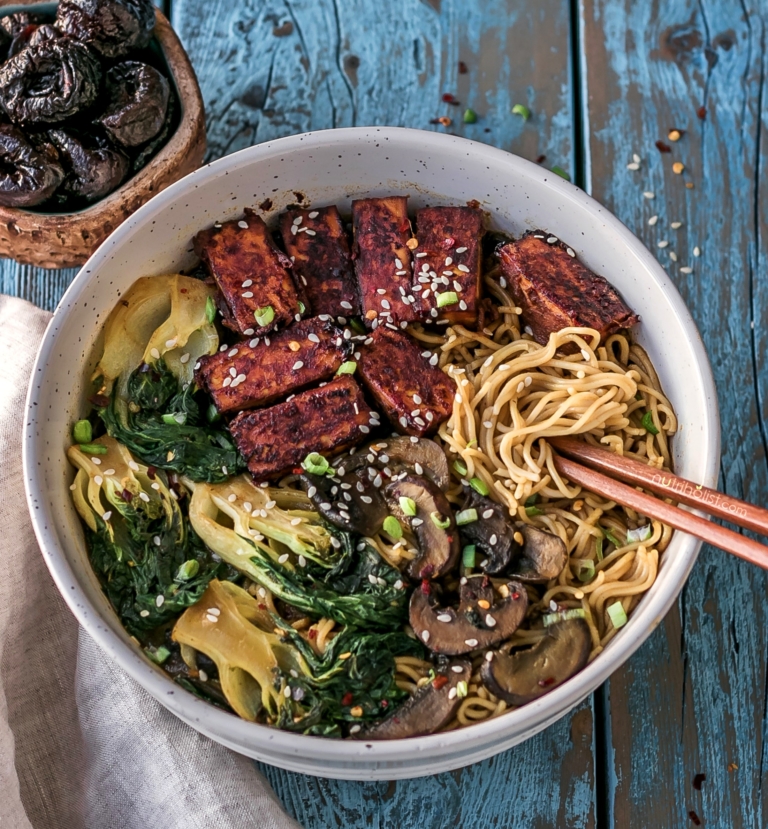
[[[46,40],[0,67],[0,103],[18,124],[57,123],[87,109],[100,82],[101,66],[87,46]]]

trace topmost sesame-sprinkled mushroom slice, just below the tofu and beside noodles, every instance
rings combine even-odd
[[[371,451],[375,447],[376,451]],[[440,489],[448,489],[451,474],[448,459],[437,443],[429,438],[406,436],[378,440],[351,457],[342,457],[334,466],[347,472],[372,466],[378,470],[389,470],[391,475],[399,472],[423,475]]]

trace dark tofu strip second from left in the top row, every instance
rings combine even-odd
[[[294,208],[280,217],[283,247],[293,276],[315,316],[358,316],[360,296],[347,234],[335,207]]]

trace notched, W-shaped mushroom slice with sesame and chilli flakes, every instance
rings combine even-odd
[[[517,630],[528,609],[528,594],[514,581],[502,586],[501,600],[494,603],[487,577],[467,579],[458,611],[439,607],[434,591],[425,592],[428,588],[422,585],[413,591],[409,621],[414,633],[435,653],[453,656],[498,645]]]

